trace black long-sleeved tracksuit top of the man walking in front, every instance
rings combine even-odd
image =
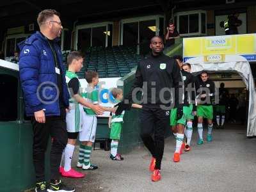
[[[180,69],[177,65],[177,61],[163,53],[158,56],[150,54],[138,64],[135,81],[129,97],[131,99],[131,93],[134,88],[143,87],[143,100],[147,99],[147,102],[143,101],[143,108],[160,108],[161,105],[169,107],[172,98],[170,88],[177,89],[179,85],[182,86],[180,81]],[[147,86],[143,86],[143,83],[147,83]],[[152,90],[154,89],[156,90],[156,94],[152,94]],[[166,89],[169,89],[169,91],[164,92]],[[160,99],[160,92],[163,92],[162,100]],[[156,99],[154,99],[154,97],[156,97]],[[156,102],[154,102],[154,100],[156,100]],[[178,103],[179,95],[175,94],[175,106],[177,106]]]

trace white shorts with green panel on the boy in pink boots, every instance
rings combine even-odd
[[[82,127],[83,127],[82,126],[83,113],[84,113],[83,106],[79,104],[79,111],[77,111],[77,114],[76,114],[76,104],[70,103],[69,106],[70,106],[70,110],[66,115],[67,132],[79,132],[82,130]],[[78,112],[80,112],[80,114]]]

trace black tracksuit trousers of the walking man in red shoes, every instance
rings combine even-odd
[[[159,108],[143,108],[140,113],[140,136],[144,145],[156,158],[155,170],[161,169],[164,153],[164,131],[170,124],[170,111]]]

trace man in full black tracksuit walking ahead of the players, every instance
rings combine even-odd
[[[155,170],[161,170],[164,152],[164,130],[168,129],[170,108],[177,106],[177,116],[182,116],[182,104],[179,97],[172,100],[171,88],[179,88],[180,69],[177,61],[163,54],[161,38],[155,36],[150,42],[152,53],[138,64],[135,81],[129,94],[134,88],[143,88],[143,109],[140,113],[140,136],[152,157],[156,158]],[[146,84],[147,83],[147,84]],[[156,90],[155,94],[152,93]],[[165,90],[165,92],[164,92]],[[174,90],[172,90],[174,92]],[[176,96],[176,95],[175,95]],[[171,104],[172,103],[172,104]],[[178,117],[179,118],[179,117]],[[152,138],[154,134],[154,139]]]

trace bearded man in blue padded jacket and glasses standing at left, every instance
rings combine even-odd
[[[26,115],[33,126],[33,162],[36,173],[35,191],[74,191],[60,180],[61,154],[67,144],[66,110],[69,94],[65,80],[58,37],[61,35],[59,13],[44,10],[38,14],[37,31],[20,47],[20,81],[24,92]],[[44,158],[51,135],[51,181],[47,188]]]

